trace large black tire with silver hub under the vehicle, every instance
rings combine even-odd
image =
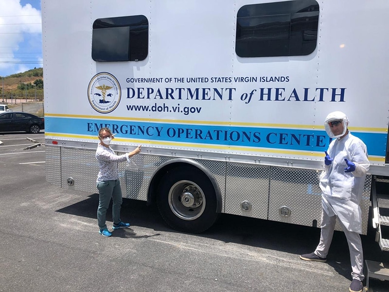
[[[215,189],[198,168],[180,166],[170,170],[162,176],[157,191],[159,213],[177,231],[201,233],[219,216]]]

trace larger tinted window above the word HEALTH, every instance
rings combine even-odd
[[[241,57],[309,55],[316,49],[319,5],[315,0],[250,4],[236,21]]]

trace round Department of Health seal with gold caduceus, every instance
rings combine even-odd
[[[102,72],[93,76],[88,86],[88,99],[92,108],[108,113],[119,105],[122,90],[115,76]]]

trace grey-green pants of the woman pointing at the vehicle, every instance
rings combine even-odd
[[[108,209],[109,202],[112,199],[112,219],[113,223],[119,224],[120,208],[122,207],[122,189],[120,187],[120,181],[104,181],[97,183],[97,189],[99,190],[99,207],[97,208],[97,223],[99,228],[106,228],[106,210]]]

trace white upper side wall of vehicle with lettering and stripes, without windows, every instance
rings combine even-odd
[[[246,163],[261,156],[264,164],[320,169],[330,142],[322,121],[342,110],[351,131],[368,145],[371,172],[386,173],[389,67],[380,56],[389,41],[379,21],[388,2],[321,2],[312,54],[242,58],[235,53],[236,19],[248,4],[133,0],[76,9],[67,2],[61,16],[44,14],[46,137],[93,142],[97,129],[107,125],[118,133],[118,144],[142,144],[155,154],[200,151]],[[44,11],[55,5],[43,1]],[[79,15],[77,22],[67,21],[70,14]],[[91,60],[93,22],[122,15],[148,19],[147,57]],[[60,33],[51,23],[64,24]],[[93,84],[109,76],[117,81],[120,100],[112,112],[99,113],[91,106],[101,95]]]

